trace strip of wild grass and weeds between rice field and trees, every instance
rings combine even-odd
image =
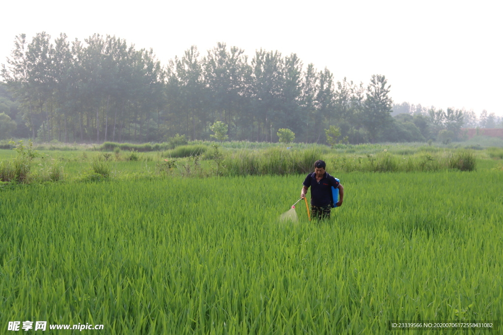
[[[480,139],[479,139],[480,140]],[[183,141],[182,141],[183,143]],[[0,143],[2,144],[2,143]],[[479,144],[285,144],[194,141],[101,146],[9,143],[0,151],[0,181],[16,184],[106,179],[296,175],[317,159],[337,173],[503,169],[502,147]]]

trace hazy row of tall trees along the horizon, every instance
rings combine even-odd
[[[275,142],[279,129],[289,129],[299,142],[324,143],[325,129],[336,126],[349,143],[425,141],[458,132],[467,119],[454,109],[393,118],[399,105],[384,75],[367,85],[335,82],[296,54],[261,49],[249,60],[225,43],[205,55],[192,46],[162,65],[152,49],[115,36],[82,42],[60,34],[51,42],[44,32],[31,41],[21,34],[2,77],[4,137],[10,130],[43,142],[208,140],[217,121],[231,140]]]

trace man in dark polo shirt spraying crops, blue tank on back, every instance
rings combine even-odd
[[[339,201],[337,207],[343,204],[344,187],[336,178],[330,176],[325,171],[326,164],[322,160],[314,163],[314,173],[309,173],[302,183],[304,187],[300,191],[300,197],[304,198],[307,189],[311,186],[311,216],[316,219],[330,218],[330,209],[332,207],[332,189],[331,186],[339,188]]]

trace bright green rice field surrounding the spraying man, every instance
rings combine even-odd
[[[501,171],[332,174],[345,201],[321,222],[302,202],[298,222],[278,220],[304,175],[4,188],[0,332],[15,320],[106,334],[379,334],[390,320],[501,320]]]

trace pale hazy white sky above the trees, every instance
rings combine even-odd
[[[16,35],[45,31],[70,40],[115,35],[152,48],[161,61],[191,45],[201,55],[217,42],[297,53],[304,68],[325,66],[336,81],[367,85],[384,74],[395,102],[486,109],[503,115],[501,1],[257,0],[164,2],[46,0],[0,5],[0,63]]]

